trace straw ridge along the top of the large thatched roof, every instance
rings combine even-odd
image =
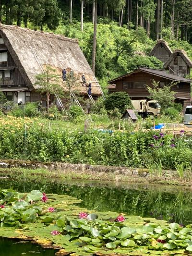
[[[45,37],[57,37],[58,39],[61,39],[61,40],[67,40],[67,41],[72,41],[73,43],[78,43],[77,39],[65,37],[62,34],[55,34],[53,32],[44,32],[41,30],[33,30],[30,28],[26,28],[26,27],[19,27],[17,25],[5,25],[5,24],[0,23],[0,30],[3,31],[5,29],[12,29],[12,30],[20,29],[20,30],[23,30],[22,32],[25,31],[26,33],[33,33],[33,34],[38,34],[38,35],[41,34],[41,36],[45,36]]]

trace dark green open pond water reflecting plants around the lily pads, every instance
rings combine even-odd
[[[19,192],[39,189],[46,193],[70,195],[82,199],[79,207],[97,211],[116,211],[128,215],[154,217],[183,225],[192,222],[192,190],[190,188],[147,184],[115,184],[84,181],[0,179],[0,188]],[[7,248],[6,250],[4,248]],[[0,256],[54,256],[30,242],[0,239]]]

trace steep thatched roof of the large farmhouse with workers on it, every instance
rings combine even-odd
[[[68,71],[73,70],[79,78],[84,73],[86,80],[92,81],[92,93],[101,95],[98,85],[94,82],[94,74],[77,40],[2,24],[0,24],[0,36],[20,69],[27,86],[31,89],[37,88],[36,75],[42,73],[42,67],[50,65],[60,76],[63,68]],[[79,86],[79,91],[86,94],[83,86]]]

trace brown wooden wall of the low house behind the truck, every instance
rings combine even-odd
[[[117,81],[116,83],[116,92],[125,91],[129,94],[131,98],[146,98],[149,96],[149,93],[146,88],[140,89],[123,89],[123,82],[144,82],[145,85],[152,87],[152,80],[156,82],[165,82],[169,84],[171,81],[165,78],[154,76],[147,73],[135,73],[128,77],[123,78],[122,80]],[[176,85],[173,86],[173,90],[177,92],[177,97],[190,98],[190,84],[189,83],[180,83],[183,85],[183,88],[177,88]]]

